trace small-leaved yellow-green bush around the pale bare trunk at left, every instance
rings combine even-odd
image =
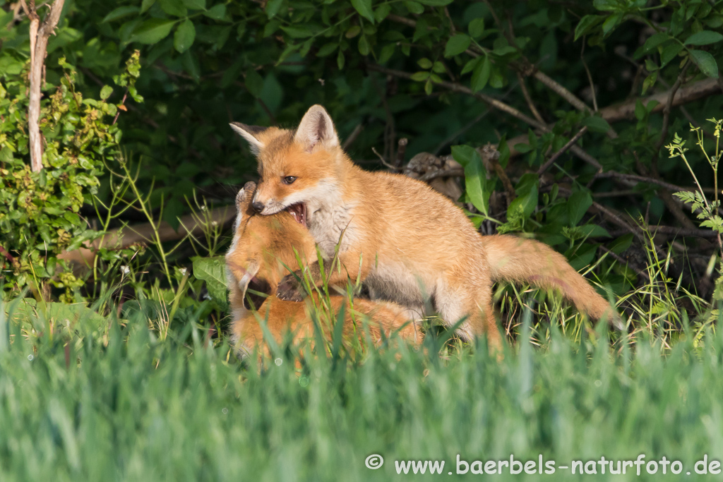
[[[116,79],[119,85],[134,90],[139,55],[129,59],[126,72]],[[8,67],[0,77],[0,247],[4,265],[12,270],[4,286],[17,289],[31,281],[40,285],[57,274],[54,285],[73,288],[80,281],[59,269],[57,257],[98,237],[80,208],[93,203],[105,165],[120,154],[121,130],[115,123],[119,106],[106,101],[113,92],[110,86],[100,90],[100,99],[84,98],[77,90],[75,67],[59,59],[60,83],[46,85],[49,95],[40,112],[43,169],[33,173],[28,162],[27,64],[8,53],[0,61]]]

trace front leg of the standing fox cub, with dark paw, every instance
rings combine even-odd
[[[366,277],[369,271],[369,262],[361,257],[361,252],[346,251],[339,254],[338,260],[332,262],[328,260],[324,263],[325,277],[328,285],[341,285],[346,283],[348,278],[356,280],[361,271],[361,279]],[[359,262],[361,259],[361,263]],[[341,265],[341,269],[340,266]],[[318,261],[309,264],[307,267],[307,276],[312,285],[319,286],[322,284],[321,266]],[[300,281],[301,280],[301,281]],[[304,274],[301,270],[286,275],[278,283],[276,296],[286,301],[302,301],[304,299]]]

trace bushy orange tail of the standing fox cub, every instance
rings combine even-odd
[[[610,304],[554,249],[516,236],[482,236],[492,280],[529,283],[554,289],[593,319],[615,323],[617,313]]]

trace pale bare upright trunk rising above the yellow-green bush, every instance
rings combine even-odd
[[[35,12],[35,0],[27,7],[21,0],[22,9],[30,18],[30,105],[27,108],[27,130],[29,134],[30,168],[38,172],[43,168],[43,138],[40,135],[40,96],[43,89],[43,66],[48,51],[48,38],[54,33],[60,20],[65,0],[55,0],[43,23]]]

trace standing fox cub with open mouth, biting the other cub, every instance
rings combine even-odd
[[[421,317],[425,302],[448,326],[465,318],[458,335],[487,333],[500,345],[492,307],[492,283],[531,283],[562,292],[598,319],[615,312],[562,254],[514,236],[481,236],[463,211],[421,181],[364,171],[341,149],[322,106],[309,108],[295,131],[234,123],[259,161],[254,210],[286,210],[306,226],[324,260],[335,256],[329,283],[361,279],[373,298],[395,301]],[[331,263],[324,263],[325,269]],[[318,262],[309,275],[320,283]],[[301,300],[294,275],[278,285],[278,297]]]

